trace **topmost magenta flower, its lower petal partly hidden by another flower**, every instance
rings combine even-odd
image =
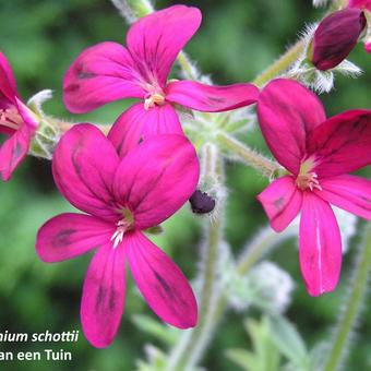
[[[201,24],[196,8],[175,5],[134,23],[124,48],[101,43],[84,50],[72,63],[63,82],[63,99],[74,113],[91,111],[122,98],[140,98],[121,116],[116,127],[128,120],[142,136],[182,133],[173,104],[207,112],[247,106],[256,101],[252,84],[208,86],[195,81],[168,81],[171,67]]]

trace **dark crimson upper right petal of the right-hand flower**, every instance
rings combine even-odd
[[[308,139],[320,178],[355,171],[371,164],[371,110],[351,110],[319,125]]]

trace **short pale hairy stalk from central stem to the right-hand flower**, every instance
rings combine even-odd
[[[216,141],[228,156],[237,157],[270,179],[280,169],[277,163],[258,154],[255,151],[226,133],[218,133]]]

